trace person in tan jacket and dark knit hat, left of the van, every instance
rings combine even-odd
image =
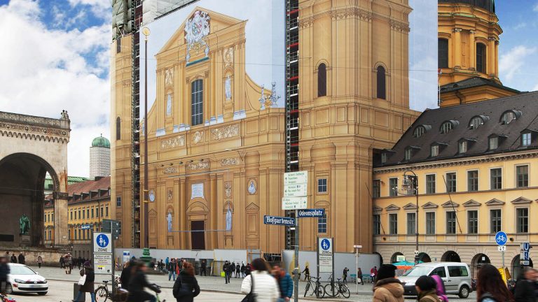
[[[376,267],[377,272],[377,267]],[[373,287],[373,302],[403,302],[403,286],[396,279],[396,266],[383,264]]]

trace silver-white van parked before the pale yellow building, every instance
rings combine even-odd
[[[422,275],[439,275],[445,284],[446,294],[457,294],[467,298],[472,292],[471,271],[461,262],[425,262],[417,264],[398,279],[403,285],[404,295],[416,296],[415,282]]]

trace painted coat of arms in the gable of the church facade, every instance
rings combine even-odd
[[[185,22],[185,41],[187,43],[188,63],[191,59],[191,50],[197,54],[205,46],[205,57],[209,55],[209,45],[206,43],[206,36],[209,34],[209,15],[200,10],[196,10],[193,16]]]

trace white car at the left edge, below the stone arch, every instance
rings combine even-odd
[[[15,292],[37,293],[41,296],[47,294],[47,280],[24,264],[8,264],[9,275],[7,294]]]

